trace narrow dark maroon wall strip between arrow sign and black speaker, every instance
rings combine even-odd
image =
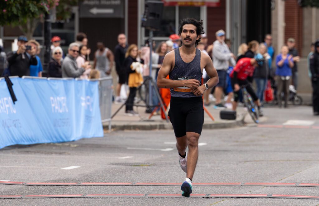
[[[128,43],[137,44],[137,0],[129,0],[128,5]]]

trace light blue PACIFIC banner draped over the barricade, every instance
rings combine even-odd
[[[103,137],[98,81],[11,78],[0,81],[0,149]]]

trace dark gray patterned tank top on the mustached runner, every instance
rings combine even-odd
[[[200,68],[200,55],[199,49],[196,49],[196,55],[194,59],[186,63],[182,60],[179,52],[179,48],[175,49],[175,66],[169,73],[169,79],[174,81],[183,81],[189,79],[197,79],[200,84],[202,83],[202,70]],[[190,92],[188,87],[171,88],[171,96],[173,97],[198,97]]]

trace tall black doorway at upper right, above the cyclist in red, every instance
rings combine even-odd
[[[271,0],[247,1],[247,42],[263,42],[271,33]]]

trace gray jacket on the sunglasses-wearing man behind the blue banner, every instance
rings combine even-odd
[[[77,61],[70,55],[67,54],[62,63],[62,78],[80,77],[85,72],[84,68],[78,68]]]

